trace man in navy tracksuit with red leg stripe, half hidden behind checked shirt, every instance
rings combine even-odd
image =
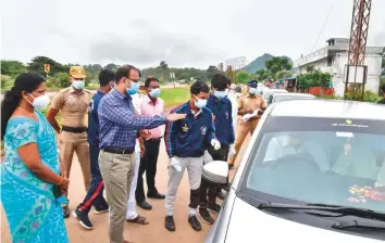
[[[102,69],[99,74],[100,88],[89,103],[88,143],[92,180],[83,203],[80,203],[73,213],[80,226],[87,230],[94,228],[88,217],[88,213],[92,206],[95,207],[95,214],[102,214],[109,210],[109,205],[103,197],[104,183],[100,175],[98,163],[100,151],[98,106],[101,98],[111,90],[114,79],[115,74],[112,71]]]

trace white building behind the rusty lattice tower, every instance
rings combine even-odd
[[[296,74],[307,73],[309,67],[321,69],[332,75],[333,88],[336,95],[344,95],[344,72],[348,63],[348,38],[328,39],[327,46],[308,55],[302,55],[294,62]],[[378,93],[381,62],[384,47],[367,47],[365,65],[368,77],[365,90]]]

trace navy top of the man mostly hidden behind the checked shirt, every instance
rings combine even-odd
[[[98,92],[92,97],[89,103],[88,110],[88,143],[99,148],[99,118],[98,118],[98,107],[101,98],[104,93]]]

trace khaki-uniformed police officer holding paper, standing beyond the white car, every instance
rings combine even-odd
[[[266,102],[261,95],[257,94],[258,82],[251,80],[247,84],[247,94],[241,95],[238,99],[238,128],[235,133],[235,155],[228,158],[228,166],[234,167],[234,162],[237,158],[241,144],[244,143],[246,137],[249,132],[254,131],[258,122],[266,108]],[[244,115],[257,113],[254,116],[244,119]]]

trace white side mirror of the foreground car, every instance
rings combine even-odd
[[[223,161],[213,161],[202,168],[202,176],[212,183],[226,184],[228,175],[228,164]]]

